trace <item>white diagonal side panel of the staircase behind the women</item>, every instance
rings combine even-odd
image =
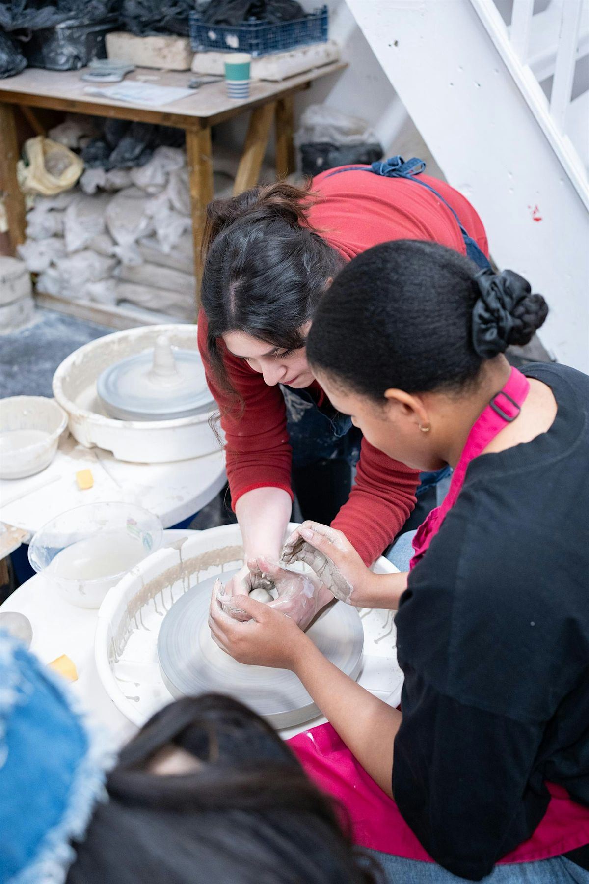
[[[542,341],[589,371],[589,214],[469,0],[348,0],[495,261],[550,306]]]

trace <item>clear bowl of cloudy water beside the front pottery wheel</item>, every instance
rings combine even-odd
[[[72,605],[97,608],[112,586],[162,544],[162,522],[127,503],[70,509],[37,531],[28,560]]]

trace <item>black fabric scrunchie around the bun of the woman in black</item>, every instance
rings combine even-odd
[[[474,278],[480,297],[472,309],[472,346],[483,359],[504,353],[519,336],[517,307],[532,293],[527,279],[513,271],[480,271]]]

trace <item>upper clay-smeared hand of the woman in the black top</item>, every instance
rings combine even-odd
[[[319,522],[303,522],[292,532],[284,544],[283,561],[287,565],[305,562],[328,591],[347,605],[362,606],[374,583],[373,572],[342,531]]]

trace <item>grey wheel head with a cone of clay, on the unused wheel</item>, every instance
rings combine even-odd
[[[170,421],[213,404],[196,350],[171,347],[160,335],[153,350],[110,365],[96,382],[107,414],[123,421]]]

